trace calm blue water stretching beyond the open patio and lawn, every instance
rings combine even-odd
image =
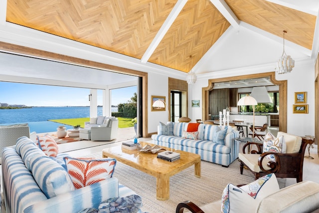
[[[117,107],[112,107],[112,112]],[[98,115],[102,115],[102,107],[98,107]],[[27,109],[1,109],[0,125],[28,123],[30,132],[55,132],[59,123],[52,119],[89,118],[90,107],[32,107]],[[72,128],[66,126],[66,128]]]

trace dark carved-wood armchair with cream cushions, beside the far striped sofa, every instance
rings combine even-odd
[[[278,132],[277,138],[284,137],[287,145],[286,153],[264,152],[262,143],[247,142],[243,146],[243,153],[239,153],[240,174],[243,174],[244,166],[258,178],[275,173],[277,178],[296,178],[297,183],[303,181],[304,155],[308,144],[313,140]],[[247,146],[256,145],[257,150],[252,150],[250,154],[245,153]],[[255,146],[252,146],[255,148]],[[274,155],[276,162],[271,161],[266,156]]]

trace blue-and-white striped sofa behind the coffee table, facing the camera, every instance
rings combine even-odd
[[[158,134],[152,135],[151,143],[169,147],[177,150],[199,154],[201,160],[220,164],[228,167],[235,159],[238,158],[239,142],[235,141],[239,137],[239,132],[231,128],[231,126],[217,126],[210,124],[199,124],[198,140],[183,139],[181,136],[183,131],[187,131],[189,123],[172,123],[172,133],[167,135],[160,134],[160,126]],[[167,123],[168,127],[169,122]],[[222,144],[213,142],[215,134],[220,129],[227,128],[226,136]],[[169,132],[169,131],[168,131]]]

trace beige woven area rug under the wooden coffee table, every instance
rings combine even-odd
[[[83,157],[101,158],[102,152]],[[142,211],[148,213],[174,213],[177,204],[183,201],[202,206],[220,200],[228,183],[239,185],[254,181],[250,171],[244,170],[243,175],[240,175],[238,160],[228,168],[201,161],[201,178],[194,176],[194,166],[172,176],[169,179],[169,200],[159,201],[156,199],[155,177],[120,162],[116,164],[114,177],[142,197]],[[280,188],[285,187],[285,179],[278,179],[278,182]]]

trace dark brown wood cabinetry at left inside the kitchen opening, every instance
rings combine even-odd
[[[226,107],[237,106],[238,89],[213,89],[209,92],[209,114],[219,115]],[[230,109],[230,108],[229,108]]]

